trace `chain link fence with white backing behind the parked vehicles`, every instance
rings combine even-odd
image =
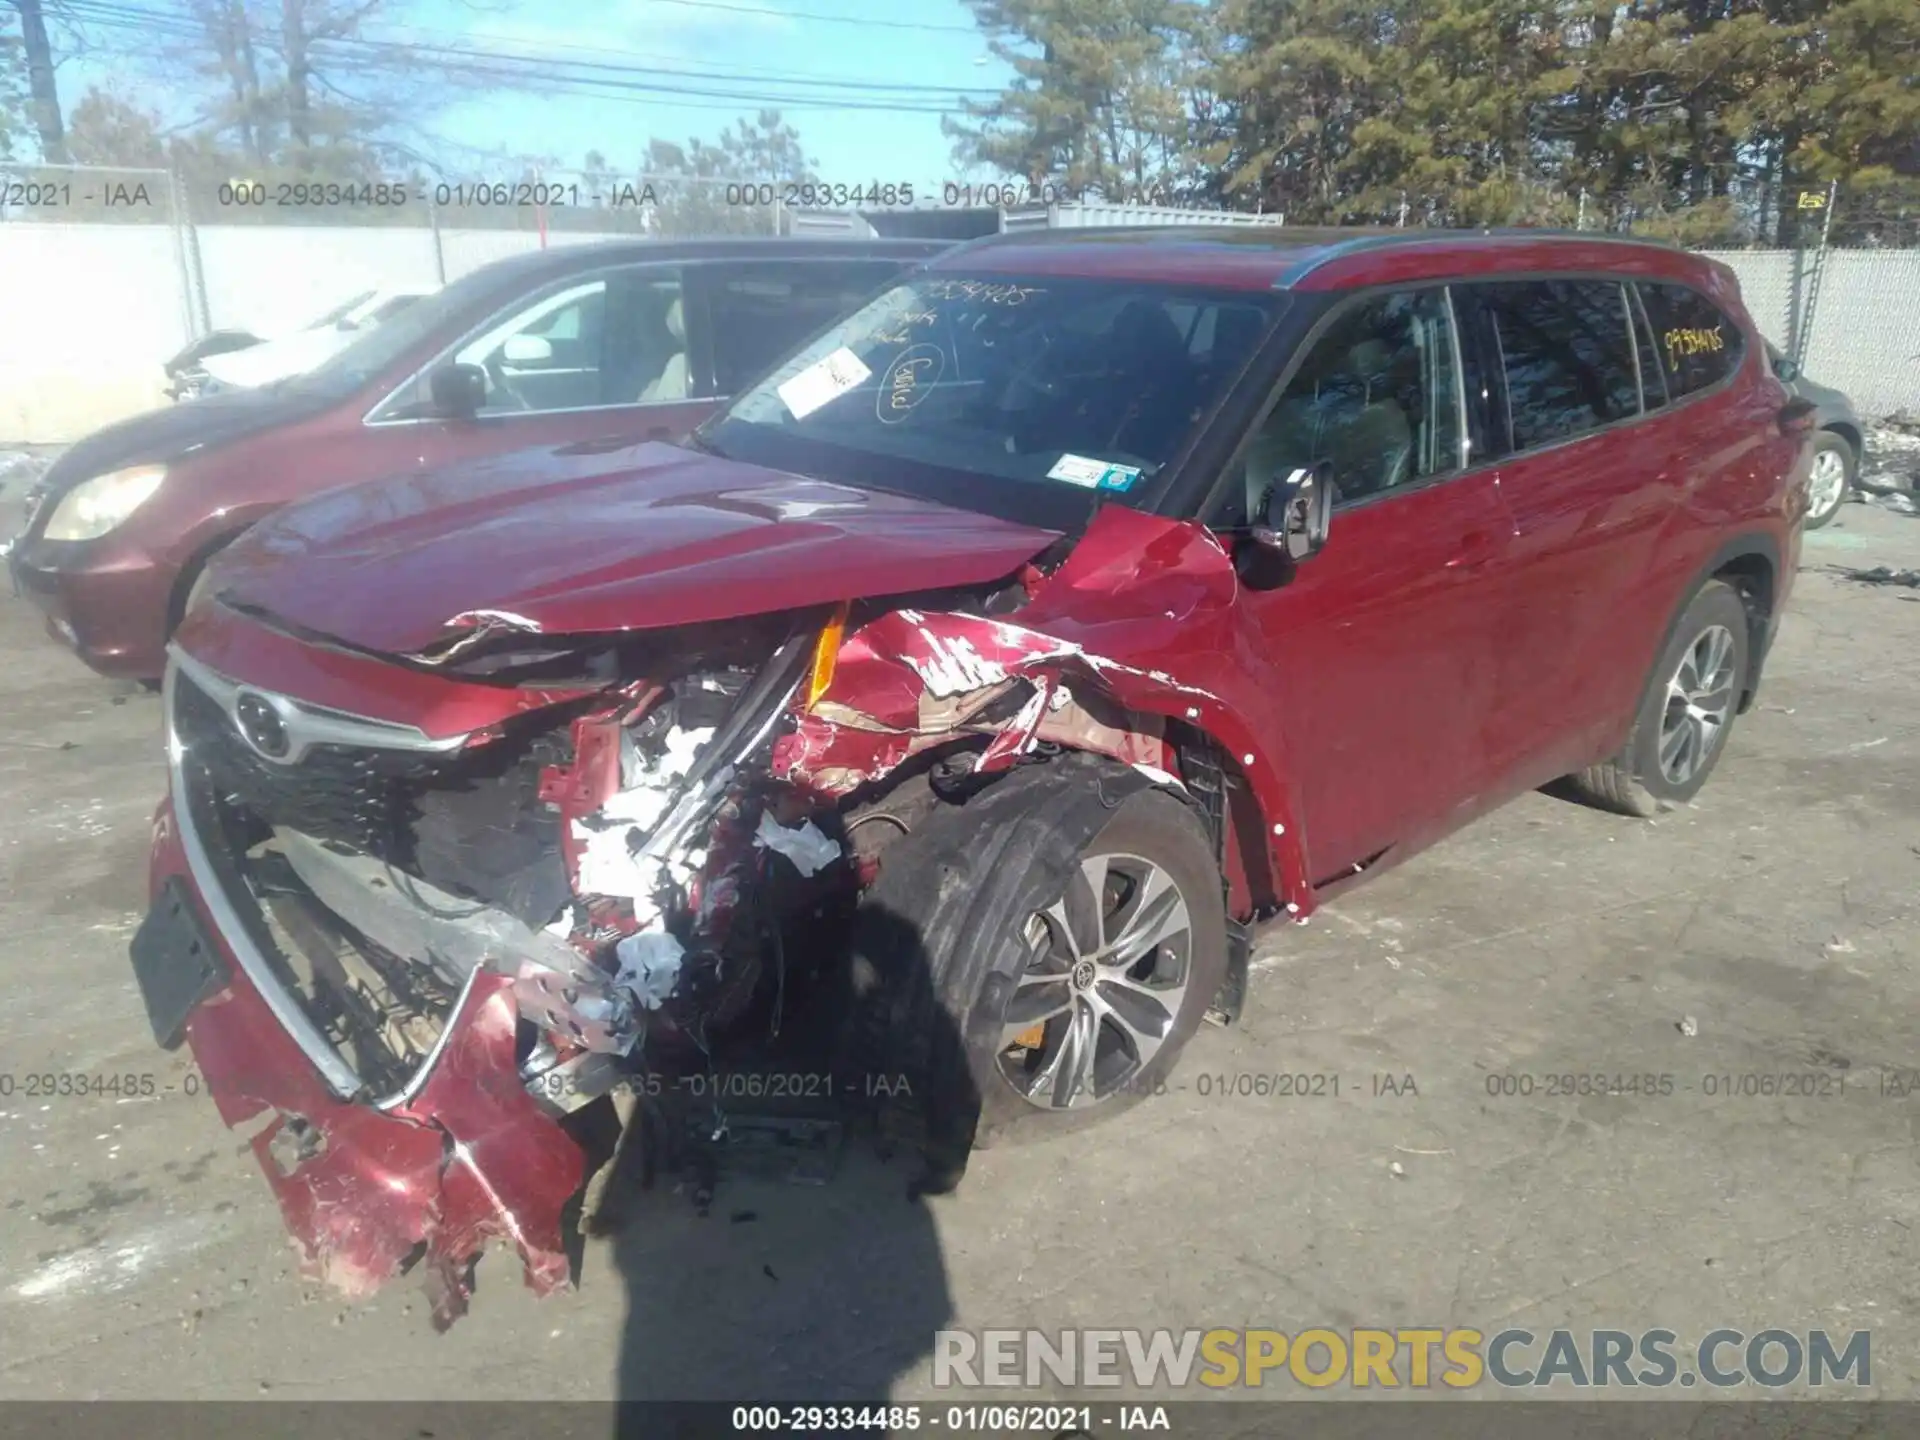
[[[1509,221],[1680,240],[1728,263],[1763,332],[1868,419],[1920,415],[1920,198],[1757,190],[1684,211],[1521,186]],[[1400,196],[1348,223],[1459,223]],[[1175,223],[1171,215],[1164,223]],[[0,163],[0,438],[65,438],[157,397],[159,361],[215,328],[284,332],[374,288],[432,288],[505,255],[611,236],[789,234],[787,186],[528,169],[515,180]],[[140,380],[121,382],[119,374]],[[127,394],[123,394],[127,392]],[[84,401],[73,396],[86,396]],[[69,415],[84,405],[86,417]]]

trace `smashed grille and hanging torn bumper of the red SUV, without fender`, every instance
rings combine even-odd
[[[244,634],[228,614],[184,641],[221,624]],[[803,616],[676,637],[697,653],[493,649],[445,680],[422,664],[461,724],[484,720],[432,735],[177,647],[134,966],[163,1031],[156,947],[211,929],[230,956],[177,1033],[227,1123],[263,1123],[253,1148],[309,1273],[365,1292],[424,1265],[440,1323],[488,1240],[541,1292],[568,1279],[586,1152],[566,1119],[641,1069],[710,1066],[780,927],[847,887],[839,843],[766,764],[818,634]],[[227,639],[207,649],[230,668],[273,670]],[[649,678],[609,680],[614,664]]]

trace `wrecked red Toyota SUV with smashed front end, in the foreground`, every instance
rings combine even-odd
[[[722,1106],[831,1094],[952,1185],[1150,1094],[1261,922],[1563,776],[1690,801],[1807,424],[1730,271],[1657,244],[948,252],[685,447],[227,551],[167,668],[154,1033],[259,1123],[309,1263],[419,1258],[442,1323],[490,1240],[566,1281],[612,1087],[710,1135],[682,1081],[803,1031],[829,1068],[781,1073],[839,1081]]]

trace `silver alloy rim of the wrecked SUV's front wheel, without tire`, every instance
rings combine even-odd
[[[1000,1075],[1043,1110],[1119,1094],[1173,1033],[1192,972],[1192,914],[1137,854],[1089,854],[1027,920],[1027,964],[1000,1029]]]

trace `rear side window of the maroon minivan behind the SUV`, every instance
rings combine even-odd
[[[900,271],[899,261],[716,265],[707,309],[714,334],[714,386],[732,396],[758,380]]]

